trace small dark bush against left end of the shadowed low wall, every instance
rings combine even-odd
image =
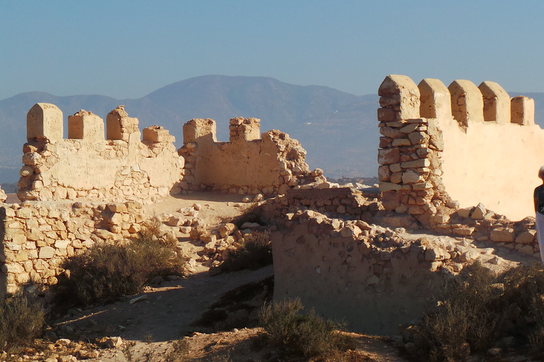
[[[220,265],[222,273],[242,269],[256,270],[272,264],[272,239],[270,233],[246,235],[236,250]]]

